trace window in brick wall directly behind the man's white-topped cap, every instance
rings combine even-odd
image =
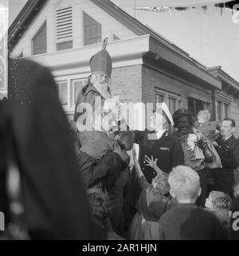
[[[174,112],[181,108],[181,97],[177,94],[170,93],[167,91],[163,91],[161,89],[155,90],[155,107],[157,103],[165,102],[167,104],[167,107],[170,110],[170,113],[173,115]]]

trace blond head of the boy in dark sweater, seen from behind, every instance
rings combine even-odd
[[[168,177],[170,195],[178,203],[195,203],[201,194],[199,176],[190,167],[179,165],[174,167]]]

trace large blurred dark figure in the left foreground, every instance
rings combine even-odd
[[[9,152],[20,173],[30,238],[104,238],[92,223],[68,120],[49,69],[10,60],[7,104]]]

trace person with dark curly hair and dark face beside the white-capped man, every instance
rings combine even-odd
[[[186,108],[178,108],[173,115],[174,127],[178,130],[174,136],[178,138],[184,152],[185,165],[198,172],[200,177],[201,195],[197,204],[204,207],[206,201],[206,163],[202,148],[198,147],[198,137],[193,131],[195,117]]]

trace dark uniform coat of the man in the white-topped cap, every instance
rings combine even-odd
[[[155,178],[156,172],[144,162],[145,156],[151,156],[158,159],[158,167],[169,173],[173,167],[184,164],[184,155],[179,141],[165,132],[157,140],[149,140],[150,132],[135,132],[135,143],[139,144],[139,165],[147,182],[151,183]]]

